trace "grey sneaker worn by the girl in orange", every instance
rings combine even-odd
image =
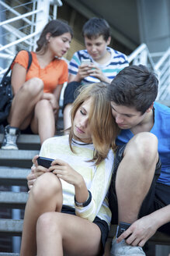
[[[16,127],[5,126],[2,149],[18,149],[16,140],[19,137],[20,130]]]

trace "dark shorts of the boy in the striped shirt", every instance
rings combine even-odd
[[[73,103],[75,98],[77,98],[76,91],[78,90],[78,87],[80,87],[79,82],[71,82],[67,85],[67,87],[65,87],[63,110],[66,105]]]

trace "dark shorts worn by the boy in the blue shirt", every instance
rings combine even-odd
[[[118,204],[116,197],[116,172],[117,168],[123,159],[123,152],[126,148],[126,145],[120,146],[116,151],[116,157],[114,160],[114,170],[111,185],[109,187],[109,208],[112,211],[112,224],[118,224]],[[144,198],[143,204],[141,205],[141,210],[139,212],[138,218],[141,218],[145,215],[150,214],[160,208],[165,207],[170,204],[170,186],[167,186],[163,183],[158,183],[158,177],[161,172],[161,160],[158,160],[156,169],[154,172],[154,178],[151,183],[150,190],[147,193],[147,196]],[[161,226],[158,229],[164,233],[170,234],[170,222]]]

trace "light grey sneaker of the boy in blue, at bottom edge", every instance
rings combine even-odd
[[[119,244],[116,243],[116,238],[113,238],[112,247],[110,250],[110,256],[146,256],[142,247],[130,246],[125,240],[122,240]]]

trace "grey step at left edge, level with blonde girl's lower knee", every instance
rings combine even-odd
[[[23,219],[0,219],[0,233],[9,236],[21,236]]]

